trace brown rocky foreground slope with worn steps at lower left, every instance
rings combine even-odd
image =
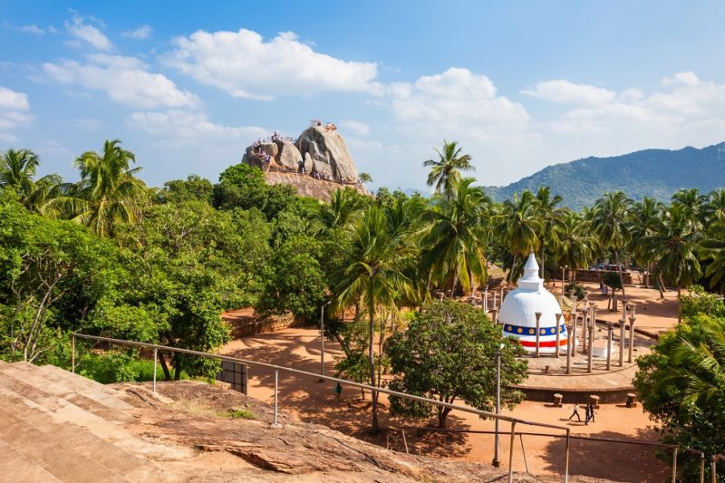
[[[505,480],[501,469],[406,455],[285,414],[273,429],[269,405],[222,384],[160,383],[157,395],[0,361],[0,407],[0,481]]]

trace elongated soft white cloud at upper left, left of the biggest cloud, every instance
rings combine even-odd
[[[86,61],[43,63],[43,70],[55,81],[102,91],[112,101],[135,107],[179,108],[199,104],[195,94],[180,90],[163,74],[149,72],[148,65],[135,57],[97,53],[86,56]]]

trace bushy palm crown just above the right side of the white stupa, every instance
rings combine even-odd
[[[595,241],[585,219],[574,211],[567,211],[558,226],[558,263],[568,266],[570,281],[579,268],[589,266],[594,259]]]

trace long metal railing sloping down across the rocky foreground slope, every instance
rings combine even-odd
[[[386,389],[386,388],[370,386],[368,384],[361,384],[359,382],[347,381],[345,379],[338,379],[336,377],[331,377],[331,376],[324,376],[322,374],[317,374],[314,372],[300,371],[299,369],[292,369],[290,367],[285,367],[285,366],[280,366],[280,365],[275,365],[275,364],[268,364],[266,362],[250,361],[247,359],[240,359],[238,357],[229,357],[227,355],[220,355],[220,354],[214,354],[214,353],[202,353],[202,352],[198,352],[198,351],[192,351],[190,349],[181,349],[179,347],[169,347],[167,345],[159,345],[159,344],[155,344],[155,343],[140,343],[140,342],[135,342],[135,341],[124,341],[122,339],[112,339],[111,337],[101,337],[98,335],[88,335],[85,333],[73,333],[73,338],[71,341],[71,346],[72,346],[71,365],[72,365],[73,372],[75,372],[75,339],[76,338],[89,339],[92,341],[105,342],[105,343],[115,343],[115,344],[120,344],[120,345],[131,345],[133,347],[143,347],[145,349],[153,349],[153,358],[154,358],[153,391],[154,392],[156,392],[156,366],[157,366],[157,359],[158,359],[159,351],[166,351],[166,352],[170,352],[170,353],[184,353],[184,354],[188,354],[188,355],[196,355],[198,357],[208,357],[210,359],[217,359],[219,361],[239,362],[239,363],[252,365],[252,366],[256,366],[256,367],[264,367],[266,369],[272,369],[275,371],[275,419],[274,419],[274,423],[273,423],[274,427],[279,426],[277,423],[277,408],[278,408],[278,400],[279,400],[278,382],[279,382],[279,372],[280,371],[289,372],[292,374],[303,375],[303,376],[307,376],[307,377],[314,378],[314,379],[320,379],[320,380],[324,380],[324,381],[339,382],[340,384],[344,384],[346,386],[352,386],[354,388],[358,388],[358,389],[362,389],[362,390],[371,391],[372,393],[382,392],[383,394],[387,394],[389,396],[395,396],[397,398],[408,399],[411,401],[424,402],[426,404],[433,404],[435,406],[449,408],[450,410],[469,412],[471,414],[476,414],[482,418],[491,418],[494,420],[508,421],[511,424],[511,430],[510,430],[511,440],[510,440],[510,448],[508,451],[508,482],[509,483],[512,483],[514,480],[514,473],[513,473],[514,439],[517,434],[517,432],[516,432],[517,424],[527,424],[529,426],[538,426],[540,428],[549,428],[552,430],[563,430],[563,431],[565,431],[565,435],[563,435],[562,437],[564,437],[566,439],[564,481],[565,481],[565,483],[568,483],[568,481],[569,481],[569,440],[570,440],[570,431],[571,430],[569,428],[566,428],[565,426],[558,426],[556,424],[548,424],[546,422],[521,420],[518,418],[513,418],[511,416],[496,414],[494,412],[479,411],[479,410],[476,410],[473,408],[469,408],[467,406],[459,406],[458,404],[450,404],[449,402],[435,401],[432,399],[415,396],[413,394],[407,394],[405,392],[391,391],[390,389]]]

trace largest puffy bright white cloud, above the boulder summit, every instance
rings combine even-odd
[[[375,92],[375,63],[347,62],[317,53],[286,32],[265,42],[260,34],[198,31],[174,40],[162,60],[234,97],[272,100],[325,91]]]

